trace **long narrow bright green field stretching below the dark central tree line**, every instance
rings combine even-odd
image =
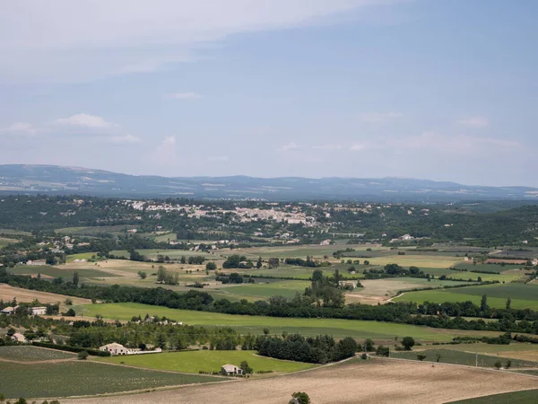
[[[95,316],[101,314],[108,319],[131,320],[133,316],[145,314],[166,316],[175,321],[183,321],[188,325],[202,325],[208,327],[230,326],[242,334],[262,334],[265,327],[271,333],[282,334],[297,332],[304,336],[330,334],[334,338],[374,338],[393,340],[395,337],[412,336],[424,341],[450,341],[457,335],[493,335],[485,331],[473,332],[451,329],[430,329],[427,327],[395,324],[380,321],[353,321],[339,319],[291,319],[264,316],[243,316],[221,314],[215,312],[193,312],[188,310],[169,309],[167,307],[150,306],[138,303],[107,303],[88,304],[83,306],[87,312],[84,315]]]

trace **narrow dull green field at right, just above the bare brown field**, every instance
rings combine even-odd
[[[400,359],[411,359],[418,361],[417,355],[425,355],[425,361],[437,362],[437,354],[440,354],[440,363],[443,364],[465,364],[467,366],[474,366],[478,364],[479,367],[494,367],[495,362],[500,360],[503,364],[507,364],[508,359],[506,357],[492,356],[492,355],[482,355],[482,354],[473,354],[471,352],[455,351],[452,349],[425,349],[416,351],[405,351],[405,352],[391,352],[391,357],[400,358]],[[520,359],[510,359],[512,361],[513,368],[525,368],[530,367],[534,368],[538,366],[536,362],[523,361]]]

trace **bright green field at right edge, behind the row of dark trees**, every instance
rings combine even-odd
[[[480,304],[482,294],[488,296],[488,304],[493,308],[504,308],[508,296],[512,299],[513,309],[538,310],[538,285],[498,284],[467,286],[463,288],[409,292],[395,299],[396,302],[445,303],[471,301]]]

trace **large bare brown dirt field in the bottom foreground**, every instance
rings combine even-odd
[[[538,388],[538,378],[454,366],[373,359],[231,384],[191,385],[137,395],[61,400],[62,404],[204,403],[281,404],[294,391],[312,402],[434,404]]]

